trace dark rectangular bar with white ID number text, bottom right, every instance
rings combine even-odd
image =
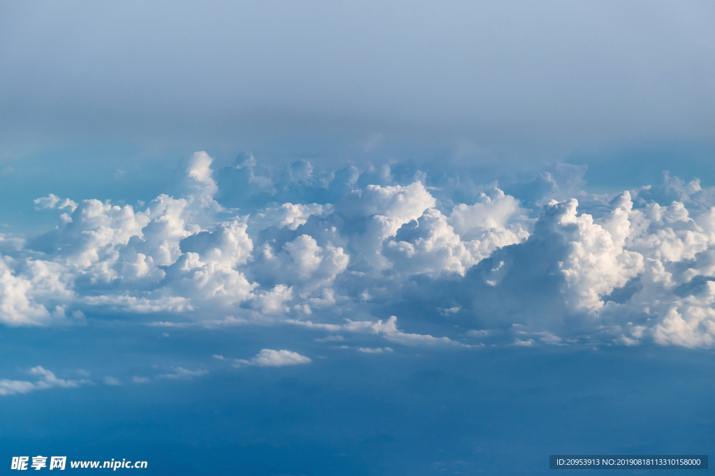
[[[706,470],[708,455],[549,455],[551,470]]]

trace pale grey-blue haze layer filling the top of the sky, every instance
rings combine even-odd
[[[704,1],[3,2],[0,124],[6,147],[325,129],[711,143],[714,19]]]

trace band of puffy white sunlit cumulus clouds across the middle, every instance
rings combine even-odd
[[[215,171],[197,152],[185,192],[146,207],[36,199],[59,222],[26,241],[0,236],[0,321],[132,312],[398,344],[714,345],[715,192],[666,174],[595,196],[579,173],[563,165],[500,189],[387,166],[270,169],[250,154]],[[403,332],[390,314],[431,330]],[[307,359],[264,350],[241,363]]]

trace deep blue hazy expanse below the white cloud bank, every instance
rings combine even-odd
[[[126,322],[6,329],[4,375],[38,362],[58,376],[82,367],[96,383],[4,397],[2,460],[127,458],[147,460],[143,473],[152,475],[531,475],[549,471],[550,454],[712,454],[715,443],[710,351],[395,347],[356,355],[275,329],[157,334]],[[296,337],[302,347],[292,348],[311,365],[235,369],[211,357]],[[127,383],[163,372],[169,360],[209,374]],[[99,375],[124,383],[104,385]]]

